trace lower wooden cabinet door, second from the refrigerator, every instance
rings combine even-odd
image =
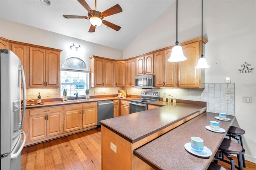
[[[57,112],[47,115],[47,136],[60,134],[62,132],[60,114],[60,112]]]

